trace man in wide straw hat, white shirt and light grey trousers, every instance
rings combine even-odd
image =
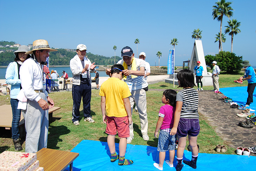
[[[43,63],[49,57],[50,49],[46,40],[33,42],[33,49],[25,54],[32,54],[32,58],[25,60],[20,67],[22,90],[27,97],[26,109],[22,110],[25,119],[26,149],[25,152],[37,152],[47,147],[48,109],[54,106],[48,96],[46,78],[43,73]]]

